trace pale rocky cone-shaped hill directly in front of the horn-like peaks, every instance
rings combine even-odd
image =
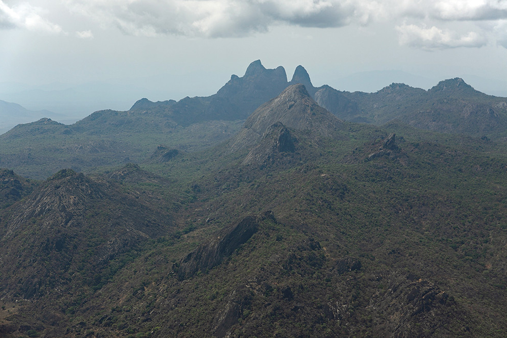
[[[321,136],[331,136],[343,126],[341,120],[312,99],[302,84],[287,87],[280,95],[261,105],[246,120],[244,127],[263,135],[269,126],[277,122]]]

